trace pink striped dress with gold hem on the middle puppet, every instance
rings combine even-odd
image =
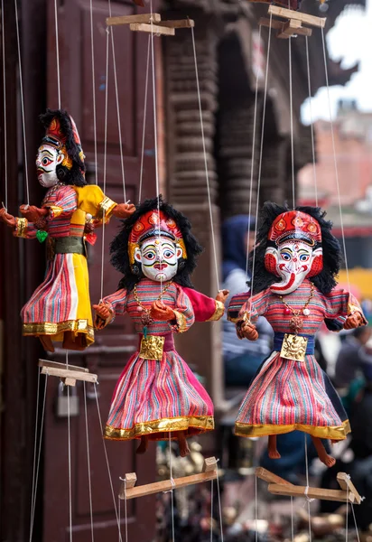
[[[159,298],[160,288],[160,283],[147,278],[139,282],[137,293],[145,308],[150,309]],[[128,313],[141,338],[144,324],[133,292],[118,290],[103,303],[116,315]],[[149,335],[166,337],[163,359],[144,360],[137,350],[127,362],[112,397],[104,434],[108,439],[148,435],[153,440],[167,440],[173,432],[191,436],[214,427],[212,401],[172,343],[173,332],[186,332],[195,320],[191,300],[173,283],[164,292],[163,303],[172,307],[176,322],[154,321],[147,326]]]

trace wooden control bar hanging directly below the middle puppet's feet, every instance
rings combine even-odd
[[[172,491],[177,488],[194,485],[203,481],[216,480],[217,478],[217,461],[215,457],[209,457],[204,460],[203,472],[193,474],[192,476],[184,476],[182,478],[174,478],[171,480],[155,481],[143,486],[135,487],[137,476],[135,472],[126,474],[126,478],[121,484],[119,499],[130,500],[145,495],[153,495],[162,491]]]

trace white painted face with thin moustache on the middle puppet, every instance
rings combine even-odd
[[[144,276],[156,282],[171,280],[181,257],[181,247],[166,237],[147,239],[141,248],[135,248],[135,261],[141,264]]]

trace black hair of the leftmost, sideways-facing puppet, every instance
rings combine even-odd
[[[57,177],[60,182],[64,182],[65,184],[72,184],[73,186],[85,186],[87,184],[84,176],[86,166],[79,156],[81,147],[77,145],[75,141],[70,116],[64,109],[47,109],[46,112],[40,116],[42,126],[47,129],[49,126],[51,126],[51,121],[53,118],[58,118],[60,121],[60,130],[66,137],[66,151],[72,160],[71,169],[65,165],[57,165]],[[48,143],[48,136],[45,136],[42,141],[43,143]],[[50,143],[53,145],[52,142]]]

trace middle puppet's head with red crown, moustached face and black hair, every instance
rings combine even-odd
[[[143,276],[192,287],[201,247],[181,212],[160,196],[144,201],[123,224],[111,243],[111,263],[124,275],[119,287],[130,291]]]

